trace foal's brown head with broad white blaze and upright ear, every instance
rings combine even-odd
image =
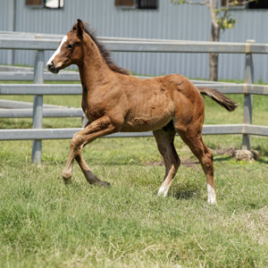
[[[58,73],[71,64],[80,64],[83,55],[83,34],[84,24],[82,21],[77,20],[46,63],[49,71]]]

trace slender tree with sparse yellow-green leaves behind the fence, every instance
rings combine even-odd
[[[171,0],[174,4],[199,4],[205,5],[209,9],[211,17],[211,34],[210,40],[219,42],[221,30],[232,29],[237,22],[229,13],[230,7],[248,4],[255,0]],[[257,1],[257,0],[256,0]],[[222,2],[222,4],[220,4]],[[209,80],[218,80],[218,62],[219,54],[209,54]]]

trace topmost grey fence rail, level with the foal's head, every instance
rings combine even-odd
[[[228,43],[205,41],[147,40],[131,38],[100,38],[114,52],[149,53],[228,53],[228,54],[268,54],[268,45],[252,43]],[[0,49],[54,50],[59,40],[44,38],[0,38]]]

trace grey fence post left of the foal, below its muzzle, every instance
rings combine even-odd
[[[34,83],[43,84],[44,77],[44,50],[38,50],[35,58]],[[42,129],[43,125],[43,96],[36,95],[33,98],[32,128]],[[31,160],[32,163],[41,163],[42,159],[42,140],[32,141]]]

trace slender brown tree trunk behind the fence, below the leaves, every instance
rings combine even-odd
[[[218,24],[212,23],[210,40],[214,42],[219,42],[219,39],[220,39],[219,26]],[[219,54],[217,53],[209,54],[209,80],[210,81],[218,80],[218,62],[219,62]]]

